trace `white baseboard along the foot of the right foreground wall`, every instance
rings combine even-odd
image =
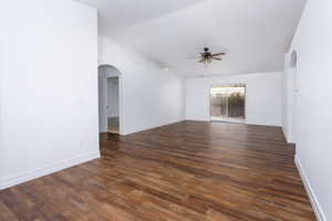
[[[310,199],[311,206],[313,208],[313,211],[315,213],[315,217],[317,217],[318,221],[328,221],[326,218],[325,218],[325,215],[324,215],[324,212],[322,210],[322,207],[321,207],[321,204],[318,201],[317,194],[314,193],[314,191],[312,189],[312,186],[309,182],[307,173],[303,170],[303,167],[302,167],[301,161],[298,158],[298,156],[295,156],[295,165],[297,165],[297,168],[298,168],[299,173],[301,176],[301,179],[302,179],[302,182],[304,185],[307,194],[308,194],[308,197]]]

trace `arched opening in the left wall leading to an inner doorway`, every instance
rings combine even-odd
[[[114,66],[98,66],[100,133],[122,134],[122,73]]]

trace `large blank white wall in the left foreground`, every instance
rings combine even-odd
[[[97,158],[96,10],[2,1],[0,27],[0,189]]]

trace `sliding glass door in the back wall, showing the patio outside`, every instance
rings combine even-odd
[[[246,123],[246,85],[210,87],[210,119],[212,122]]]

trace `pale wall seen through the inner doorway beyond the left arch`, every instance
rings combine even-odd
[[[107,77],[107,117],[118,117],[118,78]]]

